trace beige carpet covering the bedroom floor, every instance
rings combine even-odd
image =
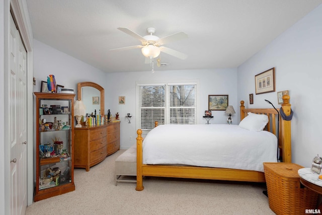
[[[76,190],[27,207],[26,214],[275,214],[265,184],[148,177],[115,186],[120,150],[91,168],[74,170]]]

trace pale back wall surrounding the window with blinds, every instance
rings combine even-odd
[[[239,102],[237,101],[237,74],[236,68],[226,69],[196,69],[196,70],[168,70],[129,72],[129,73],[109,73],[108,86],[105,90],[107,104],[105,109],[111,109],[112,115],[119,112],[120,141],[121,149],[127,149],[135,144],[136,138],[136,82],[140,83],[164,83],[176,81],[198,80],[199,82],[199,109],[197,110],[197,123],[202,124],[206,121],[202,116],[208,110],[208,95],[228,95],[228,103],[237,111]],[[118,97],[125,96],[125,105],[118,104]],[[126,122],[125,116],[130,113],[132,116],[131,124]],[[212,111],[213,124],[226,123],[227,116],[224,111]],[[237,114],[233,114],[233,124],[237,123]],[[132,140],[130,140],[132,137]]]

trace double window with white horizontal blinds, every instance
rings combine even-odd
[[[138,84],[138,128],[159,124],[196,124],[196,83]]]

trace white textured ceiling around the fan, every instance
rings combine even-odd
[[[159,38],[183,31],[188,39],[164,46],[155,70],[237,67],[322,3],[322,0],[27,0],[34,38],[106,72],[151,70],[140,45],[119,31]]]

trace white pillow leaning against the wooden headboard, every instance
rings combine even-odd
[[[268,116],[265,114],[248,113],[239,123],[239,127],[245,128],[251,131],[261,131],[265,128],[268,123]]]

